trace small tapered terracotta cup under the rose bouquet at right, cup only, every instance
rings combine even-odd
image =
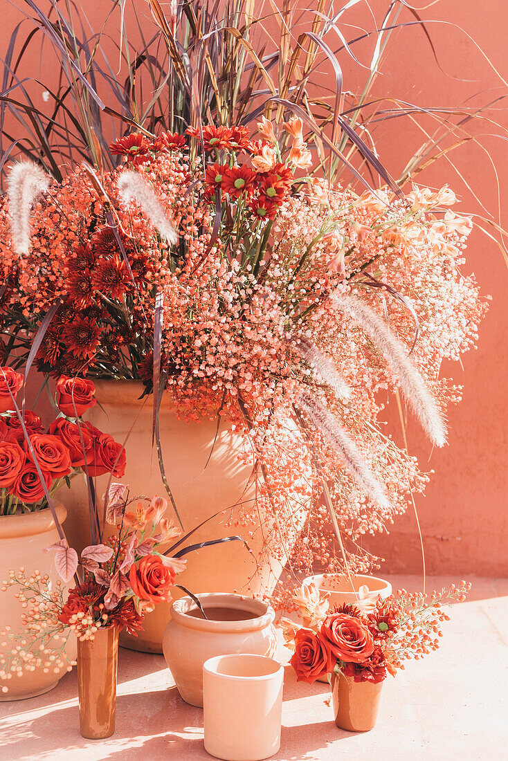
[[[383,683],[355,682],[343,673],[330,677],[335,724],[348,732],[367,732],[375,726]]]

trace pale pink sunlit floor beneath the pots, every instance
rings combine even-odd
[[[419,590],[417,577],[391,577]],[[427,589],[452,578],[431,578]],[[338,730],[327,687],[296,683],[286,669],[283,734],[276,761],[501,761],[508,759],[508,579],[472,579],[467,603],[452,609],[443,644],[385,682],[378,724],[366,734]],[[288,660],[281,648],[280,658]],[[184,703],[164,658],[120,650],[117,731],[79,734],[75,673],[45,696],[0,703],[0,759],[210,758],[203,713]]]

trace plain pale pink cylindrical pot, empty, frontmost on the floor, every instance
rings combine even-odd
[[[284,669],[259,655],[219,655],[203,665],[205,750],[225,761],[261,761],[280,748]]]

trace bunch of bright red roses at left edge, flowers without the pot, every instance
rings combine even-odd
[[[89,478],[125,473],[123,446],[81,415],[94,406],[94,384],[82,378],[59,377],[59,416],[47,431],[31,409],[18,407],[16,396],[24,377],[0,368],[0,515],[40,510],[65,482],[85,473]]]

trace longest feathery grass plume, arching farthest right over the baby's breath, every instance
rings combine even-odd
[[[401,342],[395,338],[381,317],[366,304],[362,304],[358,298],[336,292],[332,295],[331,301],[334,307],[348,314],[382,352],[391,370],[398,377],[404,399],[420,420],[430,441],[436,444],[436,447],[443,447],[443,444],[446,444],[446,423],[436,405],[436,400],[407,357]]]

